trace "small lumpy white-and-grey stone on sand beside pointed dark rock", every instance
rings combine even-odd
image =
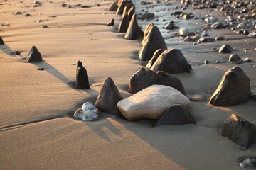
[[[86,102],[82,105],[82,108],[75,111],[73,116],[74,118],[92,121],[97,119],[99,115],[100,111],[92,103]]]

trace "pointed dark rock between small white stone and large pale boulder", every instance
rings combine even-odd
[[[96,108],[105,113],[117,115],[117,103],[122,100],[122,96],[115,86],[114,81],[107,77],[100,88],[100,93],[95,102]]]

